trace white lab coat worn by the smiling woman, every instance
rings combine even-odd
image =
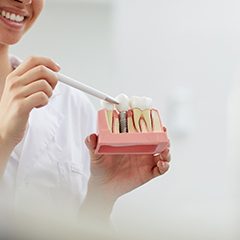
[[[12,62],[18,64],[15,58]],[[1,180],[0,201],[10,208],[69,206],[77,212],[90,175],[84,141],[95,125],[96,112],[88,98],[58,83],[49,104],[30,114],[25,137]]]

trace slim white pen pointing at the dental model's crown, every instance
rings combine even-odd
[[[90,87],[86,84],[83,84],[73,78],[70,78],[62,73],[57,73],[57,78],[60,82],[62,83],[65,83],[71,87],[74,87],[78,90],[81,90],[85,93],[88,93],[94,97],[97,97],[97,98],[100,98],[100,99],[103,99],[105,100],[106,102],[109,102],[109,103],[112,103],[112,104],[119,104],[119,102],[114,99],[113,97],[93,88],[93,87]]]

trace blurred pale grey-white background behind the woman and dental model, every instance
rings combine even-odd
[[[123,239],[240,239],[239,10],[237,0],[47,0],[12,48],[160,110],[171,170],[119,199],[112,220]]]

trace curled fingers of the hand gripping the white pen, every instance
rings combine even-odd
[[[21,104],[21,113],[48,103],[58,79],[60,67],[49,58],[31,57],[8,75],[4,95]],[[15,104],[15,103],[14,103]]]

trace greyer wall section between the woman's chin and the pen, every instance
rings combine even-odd
[[[45,1],[33,29],[12,53],[52,57],[68,74],[102,91],[112,79],[112,21],[109,1]],[[98,106],[99,101],[91,98]]]

